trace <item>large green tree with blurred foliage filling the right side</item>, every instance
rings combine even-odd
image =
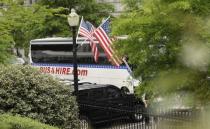
[[[124,0],[128,12],[113,22],[113,34],[129,35],[115,47],[136,66],[138,94],[191,94],[210,101],[209,0]],[[136,4],[135,4],[136,3]],[[131,6],[136,5],[136,6]]]

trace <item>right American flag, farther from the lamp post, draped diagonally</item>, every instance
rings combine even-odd
[[[122,61],[115,55],[112,49],[112,41],[110,40],[108,33],[109,30],[109,18],[107,18],[101,26],[94,31],[94,36],[99,41],[100,46],[103,48],[109,61],[116,66],[120,66]]]

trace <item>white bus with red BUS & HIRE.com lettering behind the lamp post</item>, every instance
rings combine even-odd
[[[94,62],[89,42],[77,39],[77,62],[79,83],[111,84],[134,93],[139,81],[134,80],[125,65],[113,66],[108,62],[98,45],[100,55]],[[73,83],[73,45],[72,38],[44,38],[30,42],[30,64],[42,73],[58,77],[65,83]]]

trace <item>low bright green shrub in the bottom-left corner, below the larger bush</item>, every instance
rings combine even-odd
[[[58,129],[38,121],[8,114],[0,115],[0,129]]]

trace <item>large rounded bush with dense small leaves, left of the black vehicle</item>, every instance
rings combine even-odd
[[[0,113],[20,114],[61,128],[78,128],[70,86],[30,66],[0,66]]]

